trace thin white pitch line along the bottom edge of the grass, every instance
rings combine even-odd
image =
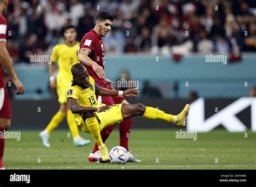
[[[6,169],[70,169],[70,168],[193,168],[193,167],[208,167],[208,168],[213,168],[213,167],[256,167],[256,165],[226,165],[226,166],[85,166],[85,167],[74,167],[74,166],[66,166],[66,167],[35,167],[35,168],[6,168]]]

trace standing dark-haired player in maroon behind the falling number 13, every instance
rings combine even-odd
[[[79,61],[83,63],[89,73],[89,75],[95,80],[97,85],[101,88],[107,88],[113,90],[110,80],[105,78],[104,65],[105,65],[105,51],[102,42],[102,37],[105,37],[107,32],[111,30],[113,16],[109,12],[99,12],[96,16],[96,25],[90,32],[87,32],[83,39],[80,41],[79,46]],[[98,98],[99,103],[104,103],[107,105],[125,103],[129,104],[122,95],[112,96],[112,97],[101,97]],[[132,125],[132,118],[126,119],[119,125],[119,136],[120,136],[120,146],[128,148],[128,140],[130,136]],[[102,136],[103,142],[109,137],[112,132],[114,125],[104,128],[100,135]],[[95,162],[99,159],[100,153],[98,151],[98,146],[95,144],[92,153],[89,155],[88,160],[90,162]],[[128,162],[142,162],[136,159],[129,152]]]

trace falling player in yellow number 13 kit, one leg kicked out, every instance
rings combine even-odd
[[[93,139],[97,143],[103,162],[109,160],[109,152],[104,145],[100,136],[100,131],[103,128],[120,123],[123,120],[142,116],[148,119],[161,119],[167,122],[174,123],[179,126],[184,126],[190,106],[186,104],[183,111],[177,116],[167,114],[164,111],[153,107],[144,106],[143,104],[114,104],[105,105],[99,104],[96,95],[98,96],[118,96],[124,97],[136,96],[139,92],[137,88],[127,89],[125,91],[109,90],[97,86],[92,77],[89,76],[83,64],[77,63],[71,68],[73,80],[71,87],[66,92],[70,109],[76,114],[77,124],[86,133],[91,133]]]

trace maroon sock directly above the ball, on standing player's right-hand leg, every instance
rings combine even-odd
[[[120,146],[124,147],[129,151],[128,140],[131,133],[133,118],[128,118],[119,124],[119,140]]]

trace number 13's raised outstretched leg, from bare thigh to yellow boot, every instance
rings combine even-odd
[[[184,126],[186,124],[186,117],[188,111],[190,110],[190,105],[186,104],[184,109],[177,115],[167,114],[164,111],[155,109],[150,106],[144,106],[143,104],[123,104],[122,105],[122,116],[123,119],[127,119],[133,116],[142,116],[148,119],[161,119],[178,126]]]

